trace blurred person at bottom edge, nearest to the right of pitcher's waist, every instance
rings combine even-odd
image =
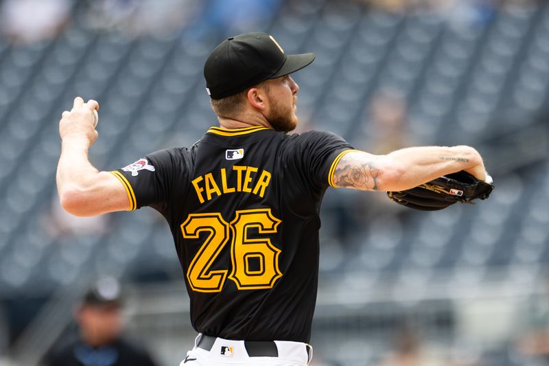
[[[447,363],[439,361],[435,356],[421,347],[421,339],[417,332],[410,328],[401,331],[395,343],[395,350],[380,366],[443,366]]]

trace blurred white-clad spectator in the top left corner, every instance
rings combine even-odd
[[[0,32],[14,43],[54,38],[69,21],[70,0],[0,1]]]

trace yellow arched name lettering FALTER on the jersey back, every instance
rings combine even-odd
[[[209,172],[196,177],[191,183],[200,203],[233,192],[252,193],[263,198],[270,183],[271,174],[267,170],[261,170],[260,173],[258,170],[259,168],[253,166],[233,165],[232,169],[221,168],[217,179]],[[234,176],[236,176],[236,182]]]

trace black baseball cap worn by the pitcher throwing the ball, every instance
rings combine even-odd
[[[229,37],[206,60],[206,91],[211,99],[226,98],[264,80],[303,69],[314,57],[314,54],[287,55],[274,37],[266,33]]]

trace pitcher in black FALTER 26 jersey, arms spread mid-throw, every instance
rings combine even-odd
[[[62,206],[77,216],[149,206],[170,225],[198,333],[182,366],[310,362],[328,187],[404,192],[462,170],[487,179],[469,146],[371,155],[333,133],[288,134],[298,123],[291,74],[314,58],[285,54],[269,34],[227,38],[204,67],[217,126],[110,172],[87,157],[97,102],[76,98],[62,114]]]

